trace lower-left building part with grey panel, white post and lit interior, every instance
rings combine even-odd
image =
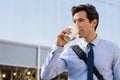
[[[0,80],[40,80],[49,50],[48,46],[0,40]]]

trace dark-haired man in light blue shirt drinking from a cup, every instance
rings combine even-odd
[[[96,34],[99,21],[96,8],[91,4],[73,6],[72,16],[74,24],[79,28],[78,35],[81,38],[78,46],[88,56],[87,44],[92,43],[94,66],[104,80],[120,80],[120,48],[110,41],[100,39]],[[41,78],[43,80],[50,80],[66,69],[69,80],[88,80],[88,66],[84,61],[78,58],[72,48],[63,49],[68,43],[63,39],[66,34],[71,34],[69,28],[57,35],[56,43],[42,66]],[[92,80],[98,79],[93,75]]]

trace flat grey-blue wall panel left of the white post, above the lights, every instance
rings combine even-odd
[[[37,66],[37,48],[0,44],[0,64],[22,67]]]

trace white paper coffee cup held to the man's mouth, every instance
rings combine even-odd
[[[64,37],[64,40],[66,42],[69,42],[73,39],[73,37],[76,37],[78,32],[79,32],[79,29],[77,26],[75,26],[74,24],[73,25],[70,25],[68,26],[69,28],[71,28],[71,34],[66,34],[66,36]]]

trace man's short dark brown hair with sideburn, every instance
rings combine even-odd
[[[97,20],[97,24],[95,26],[95,30],[96,30],[98,23],[99,23],[99,14],[93,5],[81,4],[78,6],[73,6],[71,11],[72,11],[72,16],[74,16],[74,14],[79,11],[85,11],[87,14],[87,18],[89,19],[90,22],[93,21],[94,19],[96,19]]]

